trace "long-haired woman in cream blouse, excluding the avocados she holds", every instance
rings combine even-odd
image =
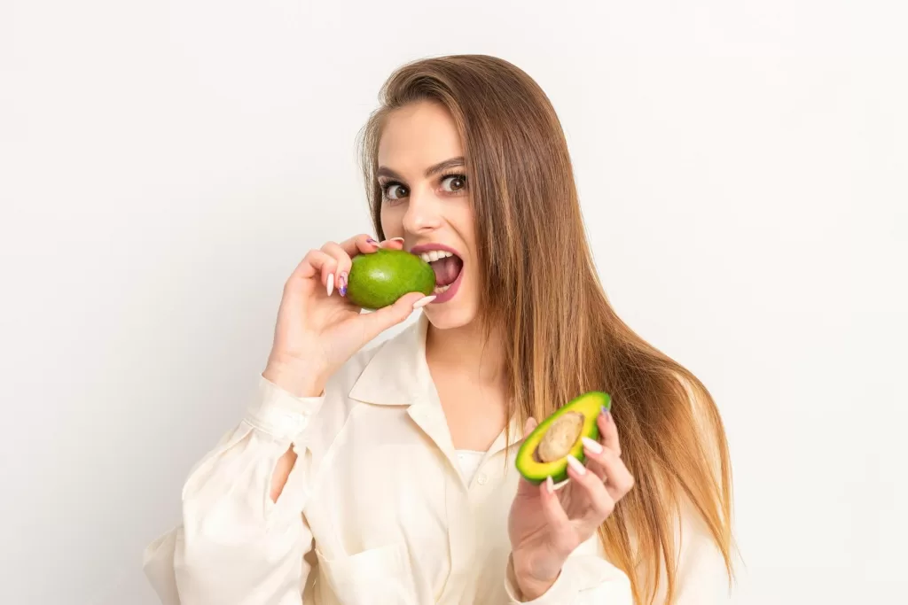
[[[492,57],[420,61],[364,133],[382,241],[329,242],[288,279],[258,398],[146,551],[162,600],[716,602],[731,571],[716,405],[609,307],[545,94]],[[360,314],[351,257],[382,246],[429,260],[438,285]],[[522,436],[594,389],[615,405],[586,464],[558,486],[521,478]]]

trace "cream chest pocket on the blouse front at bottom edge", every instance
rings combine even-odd
[[[333,599],[322,593],[325,602],[341,605],[419,605],[413,590],[410,561],[400,542],[328,559],[319,559],[321,590],[333,592]]]

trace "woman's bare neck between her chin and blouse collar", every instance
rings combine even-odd
[[[439,329],[430,323],[426,333],[426,359],[430,366],[444,367],[465,379],[498,385],[504,379],[504,351],[497,330],[485,338],[479,321],[466,326]]]

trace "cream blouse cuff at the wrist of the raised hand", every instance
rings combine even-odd
[[[315,415],[325,395],[297,397],[259,377],[258,395],[246,411],[246,422],[281,439],[292,439],[302,432]]]

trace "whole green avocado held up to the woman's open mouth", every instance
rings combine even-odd
[[[352,259],[347,298],[367,309],[388,307],[409,292],[426,296],[435,289],[435,271],[429,263],[405,250],[379,249]]]

